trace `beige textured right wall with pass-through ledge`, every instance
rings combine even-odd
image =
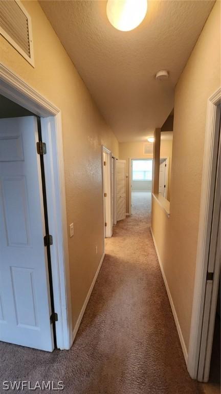
[[[152,201],[152,230],[188,349],[207,101],[220,87],[216,2],[175,88],[170,218]]]

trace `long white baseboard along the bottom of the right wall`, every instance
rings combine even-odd
[[[155,249],[156,249],[156,252],[157,252],[157,257],[158,257],[159,265],[160,265],[160,268],[161,268],[161,273],[162,273],[162,277],[163,277],[163,280],[164,280],[164,284],[165,284],[165,287],[166,287],[168,299],[169,299],[169,302],[170,302],[170,307],[172,309],[173,318],[175,320],[176,329],[178,330],[178,335],[179,335],[181,347],[182,347],[182,350],[183,350],[183,353],[184,353],[184,358],[185,358],[185,361],[186,361],[186,364],[187,364],[187,359],[188,359],[187,348],[186,348],[186,345],[185,345],[185,342],[184,342],[184,339],[183,339],[183,334],[182,334],[182,331],[181,331],[181,328],[180,328],[178,316],[177,316],[176,311],[175,311],[175,307],[174,307],[174,304],[173,304],[173,301],[172,301],[172,297],[171,297],[171,294],[170,294],[169,286],[168,286],[168,283],[167,283],[167,280],[166,280],[166,276],[165,276],[165,273],[164,273],[162,261],[161,261],[161,258],[160,258],[160,254],[159,254],[159,251],[158,251],[158,248],[157,248],[157,244],[156,244],[156,241],[154,239],[154,235],[153,235],[151,227],[150,227],[150,231],[151,231],[153,243],[154,243],[154,246],[155,246]]]

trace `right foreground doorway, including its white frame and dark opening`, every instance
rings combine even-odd
[[[220,104],[208,100],[200,224],[187,367],[220,391]],[[217,375],[218,371],[218,375]],[[218,392],[217,391],[217,392]]]

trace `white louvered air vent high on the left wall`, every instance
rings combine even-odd
[[[0,34],[34,67],[31,18],[20,1],[0,1]]]

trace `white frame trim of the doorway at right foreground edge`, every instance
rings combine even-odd
[[[192,318],[190,327],[190,340],[188,349],[187,369],[193,379],[197,379],[201,337],[203,329],[204,302],[206,294],[207,269],[209,257],[209,243],[212,223],[212,210],[214,199],[214,186],[218,147],[218,105],[221,103],[221,88],[208,100],[207,123],[205,134],[200,222],[196,253],[196,271],[193,293]],[[217,272],[214,271],[213,282],[217,281]],[[205,305],[206,307],[206,305]],[[209,305],[207,306],[210,307]],[[207,313],[208,311],[206,311]],[[201,373],[202,375],[202,373]]]

